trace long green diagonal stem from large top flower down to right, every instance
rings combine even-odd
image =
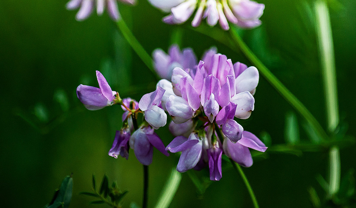
[[[323,138],[328,138],[328,135],[325,133],[324,129],[321,127],[319,122],[314,118],[314,116],[309,112],[309,110],[295,97],[287,88],[278,80],[271,71],[256,57],[256,55],[248,48],[246,43],[241,39],[239,34],[235,30],[230,29],[230,35],[237,46],[241,49],[242,53],[251,61],[252,64],[261,72],[263,77],[277,90],[282,97],[287,100],[287,102],[293,106],[298,113],[307,120],[318,134]]]

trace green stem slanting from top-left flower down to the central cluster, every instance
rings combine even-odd
[[[122,35],[125,37],[126,41],[130,44],[132,49],[136,52],[138,57],[140,57],[141,60],[143,61],[143,63],[146,64],[146,66],[148,67],[148,69],[150,69],[150,71],[155,76],[155,78],[157,80],[159,80],[160,78],[158,77],[155,69],[153,68],[153,65],[152,65],[153,62],[152,62],[151,56],[145,51],[145,49],[142,47],[140,42],[137,41],[136,37],[132,34],[129,27],[127,27],[125,21],[122,18],[120,18],[116,22],[116,25],[119,28],[119,30],[121,31]]]

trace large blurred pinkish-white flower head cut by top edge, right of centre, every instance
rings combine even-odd
[[[229,22],[243,28],[261,25],[260,17],[264,4],[250,0],[149,0],[164,12],[171,12],[163,18],[167,24],[182,24],[195,12],[192,26],[198,27],[202,19],[210,26],[218,22],[224,30],[229,30]]]

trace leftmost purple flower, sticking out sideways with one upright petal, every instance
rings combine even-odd
[[[77,97],[88,110],[99,110],[114,104],[117,92],[112,91],[103,74],[96,71],[99,87],[80,84],[77,87]]]

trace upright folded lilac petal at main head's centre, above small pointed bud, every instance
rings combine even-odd
[[[221,87],[220,87],[219,79],[217,79],[215,76],[211,74],[208,77],[205,77],[203,90],[201,91],[201,95],[200,95],[201,105],[204,106],[205,101],[210,98],[211,94],[218,96],[220,89]]]

